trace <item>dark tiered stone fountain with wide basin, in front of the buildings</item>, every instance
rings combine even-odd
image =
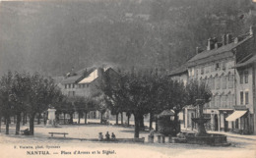
[[[198,125],[197,133],[186,134],[187,143],[192,144],[209,144],[214,146],[228,146],[230,143],[226,142],[226,136],[218,133],[207,133],[205,124],[209,122],[210,118],[204,118],[203,106],[205,104],[204,99],[197,99],[197,105],[199,106],[199,117],[193,118],[192,121]]]

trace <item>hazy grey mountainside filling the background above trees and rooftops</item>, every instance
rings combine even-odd
[[[102,63],[168,71],[209,37],[244,33],[255,15],[251,0],[1,2],[0,75]]]

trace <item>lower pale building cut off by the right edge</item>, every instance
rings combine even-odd
[[[250,54],[235,66],[236,71],[236,100],[235,109],[239,109],[240,119],[232,119],[235,129],[256,133],[256,54]],[[247,114],[246,114],[247,113]]]

